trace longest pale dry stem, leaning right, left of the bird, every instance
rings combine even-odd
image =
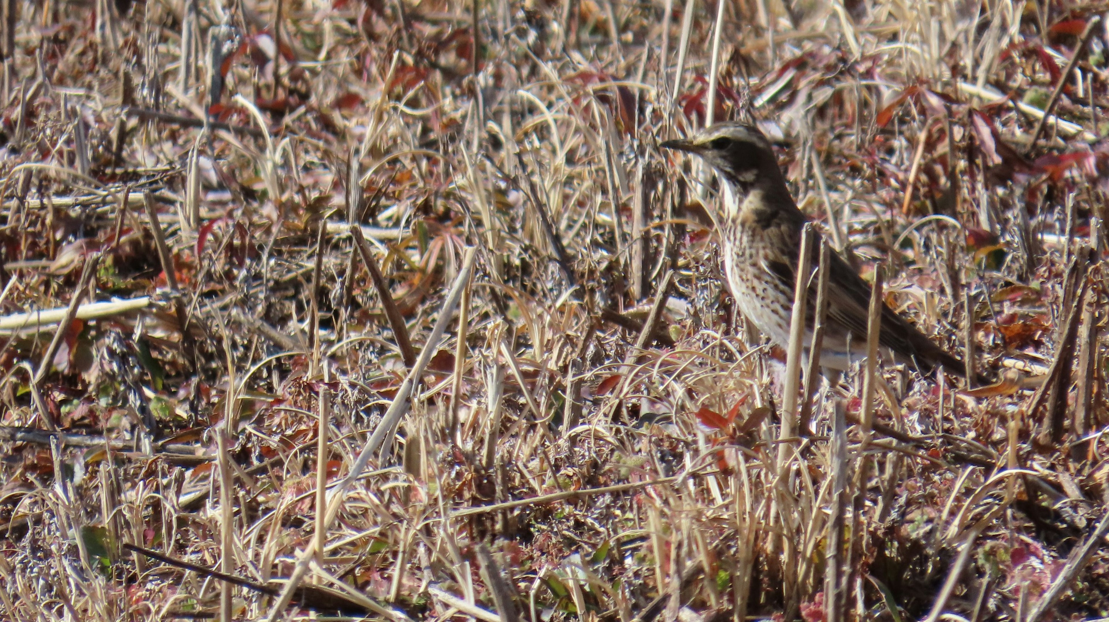
[[[327,515],[324,519],[325,530],[330,528],[332,522],[335,521],[339,507],[343,505],[343,497],[350,486],[358,479],[358,477],[362,476],[362,473],[366,469],[366,465],[369,464],[369,459],[377,453],[377,449],[385,442],[385,436],[396,429],[397,424],[400,423],[400,418],[408,412],[408,398],[411,396],[411,392],[415,388],[417,381],[423,375],[424,369],[427,367],[428,362],[430,362],[431,355],[438,350],[439,341],[442,339],[442,333],[447,330],[447,324],[450,322],[450,315],[454,313],[459,299],[461,299],[462,291],[469,284],[470,273],[474,270],[474,260],[477,257],[476,251],[477,247],[467,247],[466,253],[462,258],[462,269],[458,271],[458,276],[455,278],[455,282],[451,284],[450,291],[447,293],[447,298],[442,302],[442,307],[439,309],[439,318],[436,320],[435,326],[431,329],[431,334],[428,335],[424,350],[420,351],[416,363],[408,371],[408,375],[405,376],[404,382],[400,383],[400,387],[397,388],[397,394],[393,398],[389,410],[381,416],[381,422],[374,431],[374,435],[369,437],[366,446],[362,448],[358,457],[355,459],[354,464],[350,465],[350,471],[335,486],[335,489],[330,495],[332,500],[327,506]],[[268,622],[276,622],[282,615],[285,614],[285,608],[288,607],[288,603],[293,598],[293,593],[301,585],[304,577],[308,573],[309,562],[316,557],[315,548],[316,542],[313,540],[313,542],[308,545],[307,549],[301,553],[288,581],[285,583],[285,588],[269,608],[269,612],[266,615],[266,620]]]

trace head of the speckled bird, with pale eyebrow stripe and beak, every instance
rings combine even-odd
[[[718,123],[693,136],[661,145],[701,156],[725,180],[746,187],[761,176],[779,177],[777,158],[766,136],[754,125]]]

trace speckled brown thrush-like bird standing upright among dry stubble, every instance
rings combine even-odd
[[[801,236],[810,218],[793,200],[770,141],[753,124],[723,122],[660,146],[700,156],[715,169],[723,195],[715,219],[728,288],[740,311],[772,342],[785,348]],[[812,246],[812,265],[816,266],[820,245]],[[835,383],[853,360],[866,355],[871,286],[838,253],[828,257],[827,317],[820,365]],[[806,348],[816,308],[814,281],[811,279],[808,287]],[[933,343],[885,303],[878,343],[893,352],[895,360],[915,365],[924,374],[943,366],[966,375],[963,361]]]

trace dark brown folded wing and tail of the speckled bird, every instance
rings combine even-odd
[[[818,247],[814,248],[813,266],[818,261]],[[871,304],[871,286],[859,277],[835,252],[830,256],[828,265],[828,310],[827,329],[832,333],[852,334],[859,341],[866,340],[866,324]],[[766,268],[779,279],[794,287],[796,269],[791,263],[767,261]],[[812,326],[813,310],[816,308],[816,279],[808,288],[808,313],[806,323]],[[916,363],[925,373],[935,366],[943,365],[945,370],[965,375],[966,369],[962,361],[948,354],[943,348],[933,343],[913,324],[895,313],[889,307],[882,305],[882,332],[878,343],[893,350],[896,354]]]

